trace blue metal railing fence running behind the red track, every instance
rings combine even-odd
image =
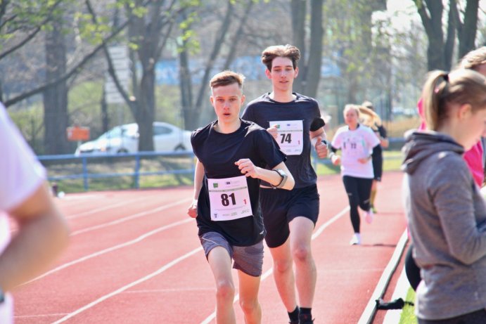
[[[399,150],[403,143],[402,138],[390,138],[389,150]],[[108,190],[189,185],[196,167],[196,157],[191,151],[41,155],[39,160],[47,169],[48,180],[70,192],[88,191],[92,187]],[[312,150],[314,169],[318,164],[331,165],[331,161],[316,158]],[[172,176],[173,179],[164,182],[161,176]],[[149,177],[153,178],[150,183],[141,186],[142,179]]]

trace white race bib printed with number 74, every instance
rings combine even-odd
[[[303,148],[303,131],[304,126],[302,120],[281,120],[270,122],[270,125],[277,125],[278,137],[276,139],[279,143],[280,149],[286,155],[300,155]]]

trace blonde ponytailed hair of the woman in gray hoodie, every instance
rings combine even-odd
[[[486,77],[466,69],[435,70],[428,73],[422,98],[427,128],[437,131],[452,104],[469,103],[473,112],[486,108]]]

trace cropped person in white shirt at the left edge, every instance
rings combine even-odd
[[[0,103],[0,323],[13,323],[11,290],[38,276],[68,244],[46,171]],[[11,237],[8,217],[18,224]]]

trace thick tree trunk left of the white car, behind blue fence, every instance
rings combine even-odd
[[[66,72],[65,41],[60,22],[46,34],[46,82],[60,78]],[[44,153],[63,154],[69,152],[66,138],[68,127],[68,86],[58,82],[44,92]]]

